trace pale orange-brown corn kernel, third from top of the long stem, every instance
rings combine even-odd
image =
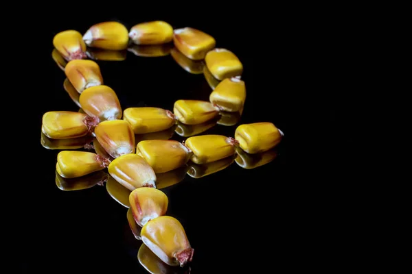
[[[92,86],[83,90],[79,102],[86,114],[96,116],[100,121],[122,118],[122,107],[116,92],[108,86]]]

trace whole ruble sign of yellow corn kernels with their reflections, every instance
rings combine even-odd
[[[122,110],[115,91],[103,84],[100,66],[85,59],[124,60],[121,51],[130,41],[129,50],[137,55],[170,52],[183,69],[204,73],[213,89],[209,101],[177,100],[173,112],[152,107]],[[163,21],[140,23],[130,32],[118,22],[99,23],[84,36],[75,30],[60,32],[53,43],[52,57],[67,77],[65,90],[81,110],[43,115],[43,146],[66,149],[57,156],[56,184],[73,190],[106,182],[108,193],[129,208],[130,228],[144,242],[139,262],[146,269],[153,258],[185,266],[194,249],[181,223],[165,216],[168,197],[159,189],[181,182],[185,174],[203,177],[234,161],[245,169],[271,162],[283,136],[270,122],[239,125],[234,138],[196,136],[219,122],[237,123],[233,117],[240,116],[246,100],[242,63],[231,51],[216,48],[209,34],[190,27],[173,29]],[[166,46],[170,43],[174,48]],[[169,140],[173,132],[189,138]],[[68,150],[80,148],[95,153]],[[110,176],[103,172],[106,168]]]

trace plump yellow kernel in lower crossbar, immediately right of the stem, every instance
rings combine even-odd
[[[152,166],[155,173],[164,173],[184,166],[190,149],[175,140],[144,140],[137,144],[136,154]]]

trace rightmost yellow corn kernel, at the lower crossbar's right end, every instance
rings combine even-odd
[[[282,140],[283,132],[273,123],[261,122],[239,125],[235,131],[241,149],[247,153],[261,153],[275,147]]]

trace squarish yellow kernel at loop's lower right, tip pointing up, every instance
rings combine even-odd
[[[215,90],[211,92],[209,100],[226,112],[242,110],[246,100],[246,87],[240,77],[223,79]]]

